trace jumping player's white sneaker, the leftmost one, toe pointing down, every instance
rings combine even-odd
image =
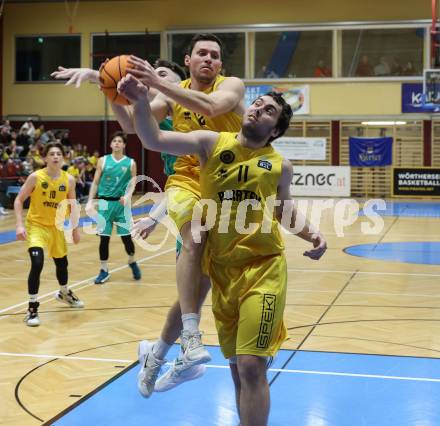
[[[142,340],[139,343],[138,359],[141,369],[138,373],[138,390],[145,398],[149,398],[154,391],[154,384],[156,383],[157,376],[160,373],[162,365],[165,364],[165,360],[157,359],[153,355],[154,343],[148,340]]]

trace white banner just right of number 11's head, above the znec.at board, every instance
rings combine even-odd
[[[281,137],[272,146],[288,160],[325,160],[325,138]]]

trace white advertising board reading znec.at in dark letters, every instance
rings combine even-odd
[[[293,166],[293,197],[349,197],[349,166]]]

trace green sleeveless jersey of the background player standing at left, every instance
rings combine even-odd
[[[105,155],[98,185],[98,197],[122,197],[131,179],[132,163],[133,159],[125,155],[119,161],[111,154]]]

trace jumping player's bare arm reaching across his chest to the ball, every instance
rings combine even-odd
[[[218,85],[215,92],[206,94],[184,89],[159,78],[147,61],[136,56],[130,56],[128,62],[132,66],[127,70],[128,73],[191,111],[207,117],[216,117],[230,111],[235,111],[238,114],[244,112],[244,83],[239,78],[227,77]]]

